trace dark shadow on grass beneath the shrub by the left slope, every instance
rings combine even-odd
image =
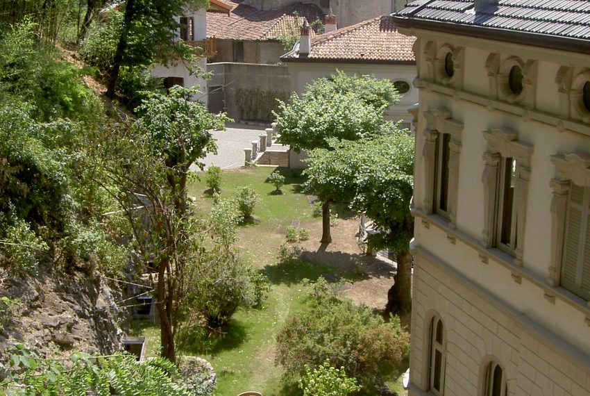
[[[238,320],[230,320],[229,324],[219,331],[208,334],[195,333],[187,336],[183,352],[199,356],[210,354],[216,356],[220,352],[235,349],[246,342],[248,334],[244,324]]]

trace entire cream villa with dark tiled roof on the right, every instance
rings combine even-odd
[[[590,395],[590,1],[418,0],[410,395]]]

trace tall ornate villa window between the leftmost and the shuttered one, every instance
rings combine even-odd
[[[532,147],[510,129],[485,131],[484,138],[484,244],[511,254],[521,265]]]

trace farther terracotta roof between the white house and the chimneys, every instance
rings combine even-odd
[[[320,19],[323,22],[321,8],[309,3],[295,3],[277,10],[261,11],[246,6],[244,0],[221,0],[233,6],[229,15],[207,13],[207,37],[220,40],[267,41],[278,40],[281,33],[308,22]]]

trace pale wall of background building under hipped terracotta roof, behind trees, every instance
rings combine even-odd
[[[289,75],[291,76],[292,92],[304,92],[305,85],[312,83],[315,79],[328,77],[342,70],[346,74],[365,74],[376,76],[378,79],[389,79],[391,81],[403,80],[410,84],[416,76],[416,67],[413,65],[369,65],[369,64],[337,64],[337,63],[295,63],[287,62]],[[418,90],[413,88],[403,95],[402,99],[391,106],[386,112],[386,118],[394,121],[412,122],[412,116],[407,113],[407,107],[418,102]]]

